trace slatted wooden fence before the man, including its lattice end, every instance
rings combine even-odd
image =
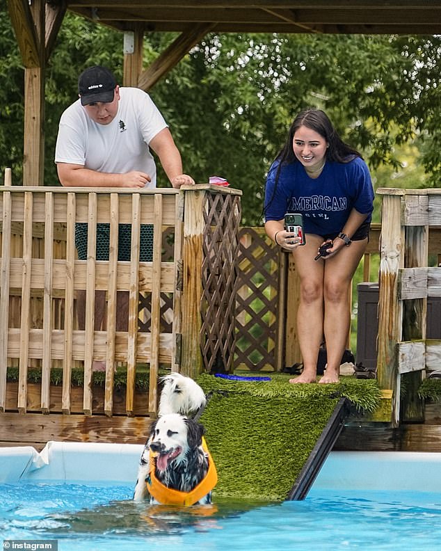
[[[240,191],[206,185],[136,193],[8,185],[0,191],[0,410],[6,417],[13,411],[154,416],[161,365],[195,376],[221,358],[232,369]],[[77,223],[88,225],[84,260],[77,258]],[[108,260],[96,258],[97,224],[109,224]],[[128,261],[118,260],[120,224],[131,225]],[[148,261],[139,259],[143,225],[153,227]],[[209,282],[204,290],[203,282]],[[84,328],[75,315],[81,289]],[[99,328],[96,291],[106,293]],[[117,292],[129,294],[127,330],[116,330]],[[205,341],[214,346],[202,356]],[[97,360],[106,362],[104,388],[93,384]],[[124,391],[114,385],[115,363]],[[36,385],[29,379],[33,367],[40,372]],[[73,385],[77,367],[81,388]],[[14,368],[17,378],[8,381]],[[56,369],[62,383],[54,390]],[[148,390],[136,385],[143,372]]]

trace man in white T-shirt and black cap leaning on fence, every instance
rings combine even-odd
[[[61,115],[58,128],[55,162],[63,186],[155,188],[157,170],[150,150],[159,157],[174,188],[195,183],[182,173],[181,155],[170,130],[143,90],[120,88],[113,73],[100,66],[81,73],[78,90],[79,99]],[[130,250],[127,246],[122,250],[121,246],[129,242],[130,229],[130,225],[120,225],[120,260],[130,259]],[[86,259],[87,224],[77,224],[75,233],[79,258]],[[98,225],[97,259],[109,259],[108,246],[99,250],[98,245],[106,240],[109,243],[108,234],[109,225]],[[141,227],[141,250],[143,241],[152,241],[149,226]],[[151,258],[151,246],[147,255]],[[83,328],[86,293],[80,294],[78,317]],[[127,330],[128,294],[118,295],[117,330]],[[97,330],[102,326],[104,310],[105,293],[97,292]],[[95,362],[94,369],[105,369],[104,362]]]

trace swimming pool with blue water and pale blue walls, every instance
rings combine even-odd
[[[131,501],[140,449],[53,444],[42,458],[3,453],[3,539],[57,540],[60,551],[440,547],[441,454],[333,452],[303,502],[218,499],[179,509]]]

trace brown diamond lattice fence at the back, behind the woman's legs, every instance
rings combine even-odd
[[[363,282],[378,282],[379,262],[373,259],[380,256],[380,234],[381,224],[372,224],[360,266]],[[439,225],[428,227],[427,246],[431,264],[440,264]],[[275,246],[263,227],[241,227],[234,367],[277,371],[300,362],[297,308],[298,278],[292,255]]]

